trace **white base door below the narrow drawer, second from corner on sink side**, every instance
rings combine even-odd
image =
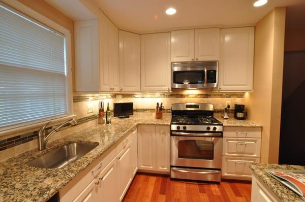
[[[129,143],[126,148],[117,155],[117,185],[119,201],[123,200],[124,195],[131,183],[131,151]]]

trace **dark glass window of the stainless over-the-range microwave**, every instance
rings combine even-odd
[[[203,84],[204,71],[175,71],[173,82],[176,84]]]

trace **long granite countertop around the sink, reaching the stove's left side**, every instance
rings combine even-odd
[[[47,149],[30,150],[0,163],[0,202],[46,201],[64,187],[90,163],[138,124],[170,125],[171,116],[155,119],[151,113],[131,116],[128,119],[113,118],[111,125],[91,126],[62,139],[48,143]],[[77,161],[61,169],[28,167],[25,163],[72,142],[98,142],[99,146]]]

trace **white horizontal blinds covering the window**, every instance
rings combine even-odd
[[[65,38],[0,4],[0,128],[68,114]]]

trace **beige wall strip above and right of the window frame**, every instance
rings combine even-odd
[[[17,0],[20,3],[24,4],[25,6],[35,10],[36,12],[44,15],[45,17],[49,18],[50,20],[56,22],[59,25],[70,30],[71,33],[71,55],[72,55],[72,83],[73,83],[73,91],[75,89],[75,82],[74,82],[74,22],[72,19],[68,18],[63,13],[59,12],[49,4],[47,4],[43,0]]]

